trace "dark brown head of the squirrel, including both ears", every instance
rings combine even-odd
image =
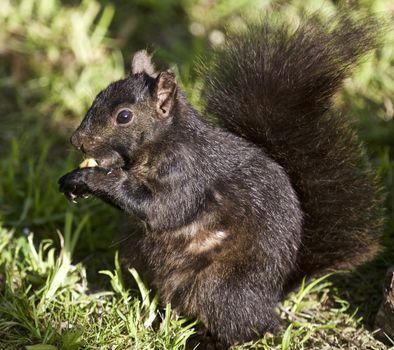
[[[148,53],[138,51],[130,74],[96,96],[71,143],[102,167],[126,166],[171,126],[177,92],[175,75],[156,73]]]

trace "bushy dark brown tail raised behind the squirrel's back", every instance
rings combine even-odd
[[[377,42],[371,18],[263,21],[230,37],[205,71],[206,110],[289,174],[305,213],[300,274],[350,268],[378,250],[381,194],[332,96]]]

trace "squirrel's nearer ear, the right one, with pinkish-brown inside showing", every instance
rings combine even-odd
[[[153,97],[156,101],[156,111],[166,118],[174,106],[177,92],[175,74],[169,71],[161,72],[156,78]]]

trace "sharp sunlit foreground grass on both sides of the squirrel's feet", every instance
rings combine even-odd
[[[115,268],[100,271],[110,282],[105,290],[89,290],[83,264],[72,264],[71,253],[82,221],[72,231],[66,217],[60,251],[49,239],[38,246],[32,233],[16,237],[0,231],[0,345],[4,349],[184,349],[195,322],[158,307],[135,270],[138,291],[126,289],[115,255]],[[239,349],[387,349],[365,330],[356,312],[339,296],[329,276],[303,283],[279,307],[285,330],[266,335]],[[34,344],[34,345],[30,345]],[[44,346],[45,344],[45,346]]]

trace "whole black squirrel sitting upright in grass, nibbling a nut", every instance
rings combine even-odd
[[[98,166],[60,180],[138,217],[136,242],[164,302],[225,346],[279,329],[274,308],[305,275],[379,250],[381,191],[332,96],[377,42],[344,13],[297,29],[263,20],[204,68],[210,123],[146,51],[100,92],[71,142]]]

